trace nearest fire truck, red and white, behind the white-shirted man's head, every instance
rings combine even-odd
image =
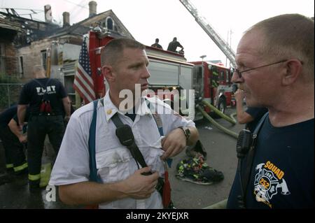
[[[121,36],[114,36],[108,31],[105,33],[90,31],[88,35],[94,91],[98,96],[104,96],[108,89],[102,75],[101,50],[113,38]],[[151,74],[148,79],[149,89],[172,107],[178,102],[179,110],[176,111],[195,120],[195,98],[192,94],[194,64],[188,63],[181,54],[150,46],[146,46],[146,54],[149,60],[148,71]]]

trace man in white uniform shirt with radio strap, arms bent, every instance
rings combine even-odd
[[[199,135],[194,122],[171,114],[172,108],[160,100],[134,96],[136,114],[124,115],[118,109],[125,100],[120,98],[120,91],[129,89],[135,95],[136,84],[141,91],[148,88],[147,66],[144,45],[137,41],[115,39],[102,51],[102,73],[109,82],[109,91],[103,103],[99,101],[97,105],[95,156],[97,174],[103,183],[89,182],[87,141],[93,113],[93,103],[89,103],[71,116],[52,170],[50,185],[59,185],[59,196],[64,203],[99,204],[99,208],[162,208],[155,185],[164,173],[163,160],[179,154],[186,145],[194,145]],[[164,111],[159,115],[164,138],[147,101],[151,101],[158,113]],[[116,113],[123,124],[132,128],[134,141],[148,167],[137,165],[130,151],[120,144],[111,120]],[[153,174],[141,174],[148,171]]]

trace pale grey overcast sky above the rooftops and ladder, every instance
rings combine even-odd
[[[90,0],[0,0],[0,8],[27,8],[43,10],[46,4],[52,8],[52,18],[62,23],[62,13],[70,13],[70,23],[80,22],[88,17]],[[207,36],[204,30],[179,0],[112,0],[97,1],[97,13],[112,9],[125,24],[132,36],[145,45],[154,43],[160,38],[164,49],[176,36],[185,48],[189,62],[221,59],[225,64],[225,56]],[[190,0],[200,15],[221,35],[225,41],[232,31],[232,49],[236,51],[241,34],[248,27],[267,17],[285,13],[300,13],[314,16],[314,0]],[[80,6],[83,7],[80,7]],[[25,13],[18,10],[18,13]],[[28,13],[28,12],[27,12]],[[25,15],[27,17],[27,15]],[[44,13],[33,15],[44,20]]]

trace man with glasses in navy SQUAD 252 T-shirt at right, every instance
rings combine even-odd
[[[235,60],[232,81],[247,105],[269,113],[227,208],[314,208],[314,20],[286,14],[258,22]]]

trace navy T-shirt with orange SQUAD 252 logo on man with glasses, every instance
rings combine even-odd
[[[246,159],[242,161],[244,173]],[[239,208],[239,174],[227,208]],[[314,208],[314,119],[287,127],[260,129],[246,190],[246,208]]]

